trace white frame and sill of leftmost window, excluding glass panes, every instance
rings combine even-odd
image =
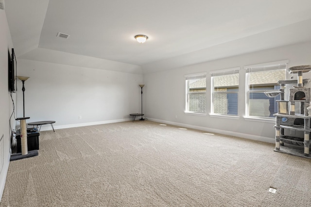
[[[189,100],[190,100],[190,95],[191,94],[204,94],[205,98],[206,98],[206,94],[207,94],[207,85],[205,88],[205,92],[189,92],[189,80],[195,80],[195,79],[202,79],[205,78],[205,81],[207,81],[207,72],[201,72],[201,73],[193,73],[193,74],[187,74],[185,75],[186,78],[186,98],[185,98],[185,113],[186,114],[191,114],[191,115],[203,115],[206,116],[206,111],[207,109],[205,109],[205,112],[200,112],[200,111],[189,111]],[[207,101],[207,98],[206,98]],[[206,105],[205,105],[206,108]]]

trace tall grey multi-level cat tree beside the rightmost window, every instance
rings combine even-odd
[[[289,73],[297,73],[297,80],[279,80],[280,100],[277,100],[278,112],[276,116],[276,148],[274,151],[289,155],[311,159],[310,157],[310,121],[311,121],[311,89],[304,87],[310,79],[303,79],[302,74],[309,72],[311,65],[301,65],[288,68]],[[284,100],[286,84],[297,82],[297,86],[290,88],[289,100]],[[266,94],[267,95],[267,94]],[[267,95],[269,96],[269,95]],[[270,96],[271,97],[271,96]],[[299,113],[295,111],[295,103],[298,102]],[[303,137],[291,136],[285,133],[289,130],[303,133]]]

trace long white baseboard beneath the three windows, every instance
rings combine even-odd
[[[174,125],[174,126],[187,127],[187,128],[193,128],[197,130],[208,131],[208,132],[213,132],[213,133],[218,133],[218,134],[241,137],[244,139],[255,140],[255,141],[260,141],[260,142],[265,142],[265,143],[275,143],[275,139],[271,137],[262,137],[262,136],[252,135],[252,134],[244,134],[244,133],[239,133],[239,132],[234,132],[234,131],[227,131],[227,130],[221,130],[221,129],[208,128],[208,127],[199,127],[199,126],[194,126],[194,125],[170,122],[170,121],[153,119],[153,118],[148,118],[148,120],[159,122],[159,123],[164,123],[164,124],[169,124],[169,125]]]

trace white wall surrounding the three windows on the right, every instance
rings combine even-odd
[[[311,64],[311,42],[194,64],[174,70],[144,74],[144,113],[150,120],[179,126],[219,132],[274,143],[274,123],[247,121],[245,115],[244,65],[289,60],[288,67]],[[210,117],[210,76],[208,71],[241,67],[239,88],[239,120]],[[186,74],[207,72],[207,115],[185,114]],[[291,75],[288,75],[290,77]],[[311,73],[304,74],[311,78]],[[175,118],[177,116],[177,119]]]

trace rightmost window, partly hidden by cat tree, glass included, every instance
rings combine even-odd
[[[278,80],[286,79],[286,61],[248,65],[246,69],[246,117],[274,119],[277,113],[276,97],[264,92],[279,91]]]

